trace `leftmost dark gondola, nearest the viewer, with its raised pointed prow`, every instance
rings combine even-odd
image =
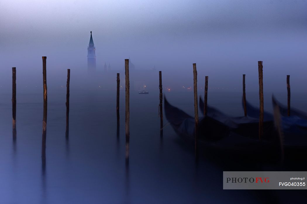
[[[165,117],[175,132],[183,137],[194,139],[195,120],[179,108],[169,104],[164,97]],[[204,116],[199,119],[198,141],[206,149],[227,153],[264,153],[272,150],[272,141],[262,141],[231,133],[230,128],[220,121]],[[258,154],[260,155],[260,154]]]

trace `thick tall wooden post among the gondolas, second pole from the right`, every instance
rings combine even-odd
[[[259,113],[259,140],[262,140],[263,136],[263,66],[262,61],[258,61],[258,73],[259,73],[259,100],[260,100],[260,113]]]

